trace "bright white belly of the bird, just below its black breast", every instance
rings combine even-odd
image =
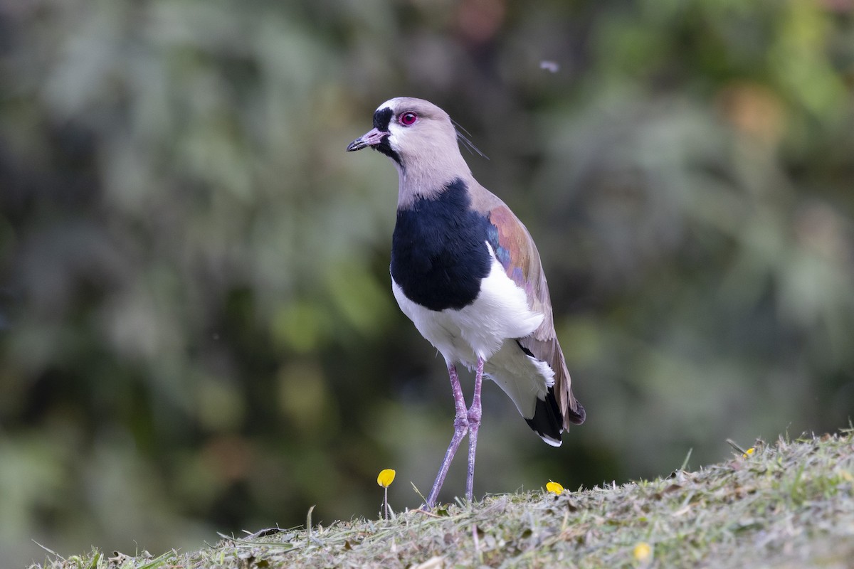
[[[397,304],[448,364],[462,363],[471,369],[477,357],[488,360],[505,340],[523,338],[542,322],[543,315],[529,309],[524,290],[506,275],[494,254],[492,258],[492,268],[481,281],[477,299],[459,310],[424,308],[407,299],[392,279]]]

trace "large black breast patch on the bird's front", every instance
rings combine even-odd
[[[465,182],[397,211],[391,276],[407,298],[432,311],[471,305],[489,274],[488,218],[469,209]]]

